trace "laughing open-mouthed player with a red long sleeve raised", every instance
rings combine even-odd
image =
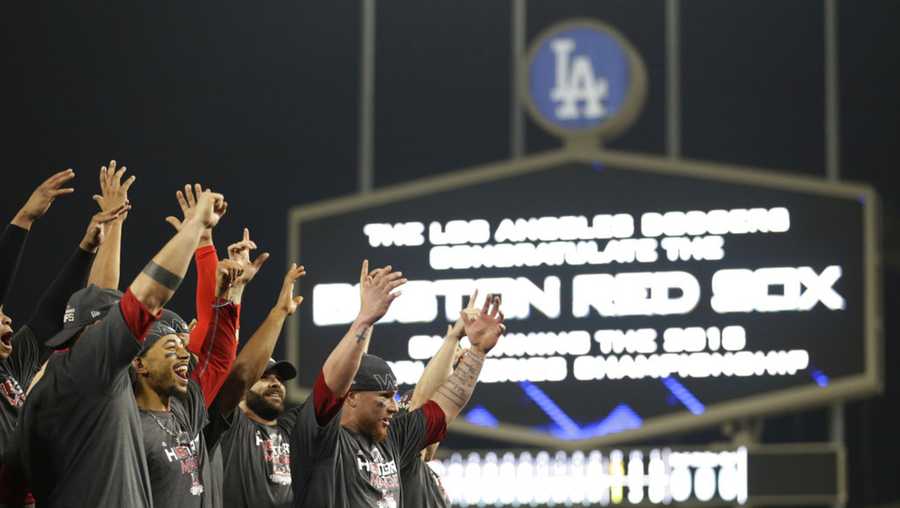
[[[234,362],[237,316],[243,283],[237,263],[220,263],[219,304],[205,349],[189,371],[188,325],[164,310],[132,361],[135,400],[140,409],[144,449],[154,504],[168,507],[213,507],[209,454],[204,433],[206,400],[215,397]],[[237,284],[241,284],[237,287]]]

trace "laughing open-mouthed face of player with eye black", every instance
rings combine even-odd
[[[187,393],[188,334],[166,335],[156,341],[141,359],[147,369],[144,378],[160,395],[184,395]]]

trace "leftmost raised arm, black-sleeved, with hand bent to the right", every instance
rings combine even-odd
[[[75,191],[71,187],[63,187],[73,178],[75,172],[67,169],[44,180],[0,233],[0,306],[5,303],[6,295],[18,271],[28,231],[34,221],[47,213],[57,197]]]

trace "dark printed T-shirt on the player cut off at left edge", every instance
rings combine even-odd
[[[25,403],[25,390],[47,358],[47,349],[38,343],[28,326],[16,331],[12,345],[12,354],[0,361],[0,460],[6,457],[13,439],[19,410]]]

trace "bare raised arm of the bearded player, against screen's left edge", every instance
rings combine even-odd
[[[219,391],[216,401],[222,414],[231,412],[241,401],[247,389],[265,371],[266,364],[275,350],[275,344],[278,343],[278,336],[284,328],[284,321],[296,312],[297,307],[303,302],[302,296],[294,296],[294,284],[304,275],[306,275],[306,270],[294,263],[284,276],[278,301],[269,311],[266,320],[241,349],[225,385]]]

